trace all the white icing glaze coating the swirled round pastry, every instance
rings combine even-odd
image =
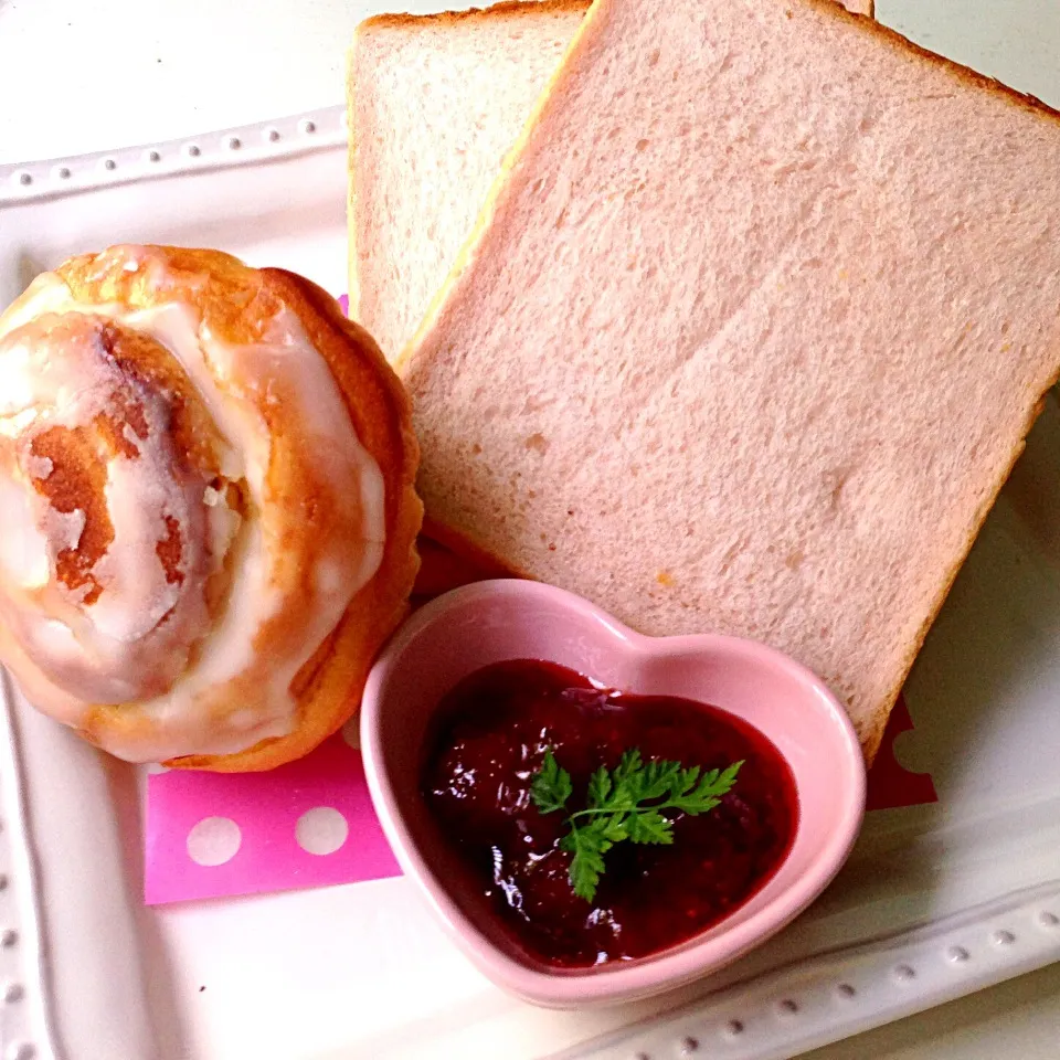
[[[157,288],[173,286],[163,259],[150,248],[129,247],[125,253],[123,269],[146,268]],[[56,555],[80,539],[83,513],[56,512],[32,488],[28,478],[46,478],[50,467],[29,468],[23,458],[15,468],[3,456],[3,438],[24,435],[28,427],[33,433],[32,417],[42,406],[51,410],[51,424],[76,426],[106,410],[114,389],[113,381],[100,381],[106,371],[100,371],[98,357],[88,371],[84,367],[88,361],[66,363],[76,361],[76,351],[45,358],[42,364],[32,349],[11,341],[3,344],[4,335],[15,339],[12,332],[42,312],[112,319],[168,349],[226,443],[220,453],[222,474],[242,480],[247,499],[244,522],[223,492],[201,483],[172,480],[169,439],[165,431],[155,430],[157,423],[150,423],[146,438],[127,430],[125,437],[136,445],[138,456],[117,457],[107,465],[106,502],[114,540],[93,568],[103,592],[92,606],[83,604],[84,591],[67,590],[55,579]],[[338,506],[340,531],[322,540],[301,540],[292,533],[290,520],[297,517],[299,501],[269,492],[272,449],[257,407],[262,399],[266,404],[297,405],[284,414],[297,416],[299,430],[307,432],[306,466]],[[149,401],[145,407],[151,421]],[[77,305],[56,275],[45,274],[0,319],[0,505],[13,515],[4,519],[0,534],[0,617],[9,621],[24,653],[11,665],[30,697],[70,724],[84,718],[89,703],[135,701],[145,709],[150,725],[140,727],[127,741],[106,744],[121,757],[160,761],[190,753],[233,753],[266,736],[290,732],[292,679],[381,562],[383,499],[382,475],[356,437],[327,363],[297,315],[286,308],[261,342],[229,344],[210,333],[193,305],[171,303],[139,311],[114,304]],[[184,598],[189,593],[178,592],[186,586],[167,582],[156,554],[167,536],[167,516],[178,521],[182,536],[193,538],[204,554],[215,558],[213,569],[232,553],[226,606],[212,627],[202,593],[209,570],[204,569],[190,602]],[[293,548],[308,550],[301,559],[308,564],[310,587],[300,593],[308,591],[315,598],[305,608],[307,621],[300,635],[285,640],[269,658],[267,678],[255,683],[253,701],[233,702],[232,689],[259,661],[255,642],[263,627],[292,604],[292,586],[285,589],[284,579]],[[30,606],[30,591],[40,590],[45,571],[43,606],[40,602]],[[4,586],[9,586],[7,594]],[[179,621],[170,618],[170,613]],[[160,625],[163,616],[167,621]],[[170,626],[179,634],[176,643],[167,635]],[[208,635],[195,645],[189,630],[198,628],[208,628]],[[192,647],[195,653],[189,656]],[[160,650],[166,651],[165,659],[159,658]],[[38,672],[24,674],[20,659],[22,664],[33,660]],[[91,674],[81,672],[85,659],[93,662]],[[142,692],[145,669],[152,668],[160,668],[161,680],[158,675],[146,679],[160,687],[148,696],[137,695]],[[71,680],[72,674],[76,681]]]

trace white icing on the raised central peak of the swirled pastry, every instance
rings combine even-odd
[[[130,390],[94,317],[43,315],[12,332],[2,351],[3,379],[12,385],[0,402],[0,422],[18,423],[21,431],[6,432],[12,441],[0,454],[0,475],[23,495],[20,519],[4,527],[4,538],[18,551],[39,555],[43,549],[49,577],[42,584],[39,568],[23,572],[6,564],[0,615],[62,693],[54,702],[49,698],[45,709],[73,723],[78,700],[108,703],[157,693],[183,666],[189,635],[202,627],[203,607],[195,593],[188,593],[169,626],[156,629],[180,602],[176,587],[166,583],[156,548],[165,537],[159,532],[163,515],[172,512],[187,523],[184,560],[194,576],[203,552],[194,531],[202,520],[183,496],[187,484],[173,475],[165,407],[142,386]],[[119,395],[135,396],[147,433],[126,437],[135,458],[119,455],[105,465],[114,540],[92,566],[92,581],[70,587],[55,571],[61,554],[80,544],[86,513],[59,510],[36,488],[46,486],[53,467],[33,447],[55,428],[96,431],[99,416],[119,424]],[[102,593],[89,601],[93,586]]]

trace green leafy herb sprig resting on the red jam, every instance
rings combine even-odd
[[[574,893],[587,902],[596,897],[605,870],[604,855],[616,842],[674,842],[674,822],[664,810],[695,817],[713,809],[735,784],[742,765],[733,762],[727,770],[702,773],[698,765],[686,770],[680,762],[644,762],[639,749],[634,748],[615,768],[601,766],[589,780],[585,808],[566,818],[571,830],[560,840],[560,849],[574,855],[570,868]],[[573,791],[571,774],[559,765],[550,748],[530,783],[534,805],[542,814],[565,809]]]

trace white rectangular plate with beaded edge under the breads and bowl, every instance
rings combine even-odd
[[[343,140],[331,109],[153,145],[158,160],[0,168],[0,301],[118,241],[219,246],[341,292]],[[4,1060],[764,1060],[1060,960],[1058,457],[1050,403],[907,688],[902,754],[941,803],[871,815],[837,882],[767,947],[618,1010],[505,997],[402,880],[144,908],[136,773],[3,686]]]

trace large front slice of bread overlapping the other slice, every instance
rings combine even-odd
[[[825,0],[597,0],[399,364],[430,516],[791,653],[871,760],[1058,374],[1057,172]]]

